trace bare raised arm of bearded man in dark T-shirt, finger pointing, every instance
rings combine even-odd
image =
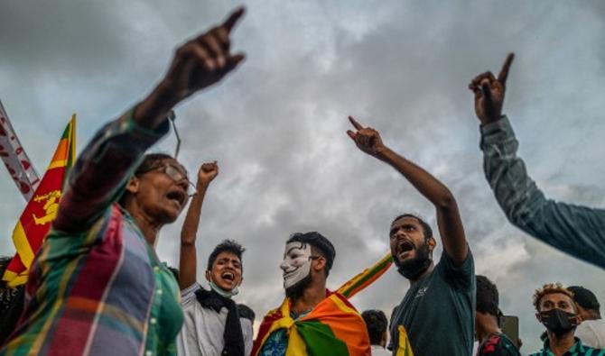
[[[451,195],[450,189],[424,169],[389,149],[382,142],[380,134],[376,130],[363,127],[350,116],[349,120],[357,132],[348,131],[347,133],[358,149],[399,171],[424,197],[433,203],[437,212],[437,224],[442,236],[443,250],[457,264],[466,260],[469,247],[464,235],[458,205],[454,196]]]

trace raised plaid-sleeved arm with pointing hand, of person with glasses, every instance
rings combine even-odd
[[[172,107],[217,83],[244,59],[231,54],[229,42],[242,14],[237,10],[225,23],[183,44],[152,93],[88,143],[70,173],[54,229],[86,231],[122,194],[144,151],[168,132],[166,115]]]

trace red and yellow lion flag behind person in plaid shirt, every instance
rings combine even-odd
[[[63,184],[75,156],[76,114],[73,114],[52,156],[51,164],[14,227],[13,242],[17,252],[3,276],[11,287],[27,281],[33,256],[42,246],[46,233],[51,229],[51,222],[57,216]]]

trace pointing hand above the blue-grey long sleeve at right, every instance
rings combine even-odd
[[[509,53],[498,78],[488,71],[470,81],[469,88],[475,93],[475,113],[481,124],[494,123],[502,115],[508,70],[513,59],[515,53]]]

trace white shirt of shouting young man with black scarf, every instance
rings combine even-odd
[[[176,338],[179,356],[220,356],[225,346],[223,332],[228,309],[221,308],[217,313],[214,309],[202,307],[195,297],[195,292],[200,288],[200,284],[196,283],[181,290],[181,305],[185,320],[181,333]],[[245,318],[240,318],[239,322],[242,325],[244,349],[249,355],[253,342],[252,322]]]

